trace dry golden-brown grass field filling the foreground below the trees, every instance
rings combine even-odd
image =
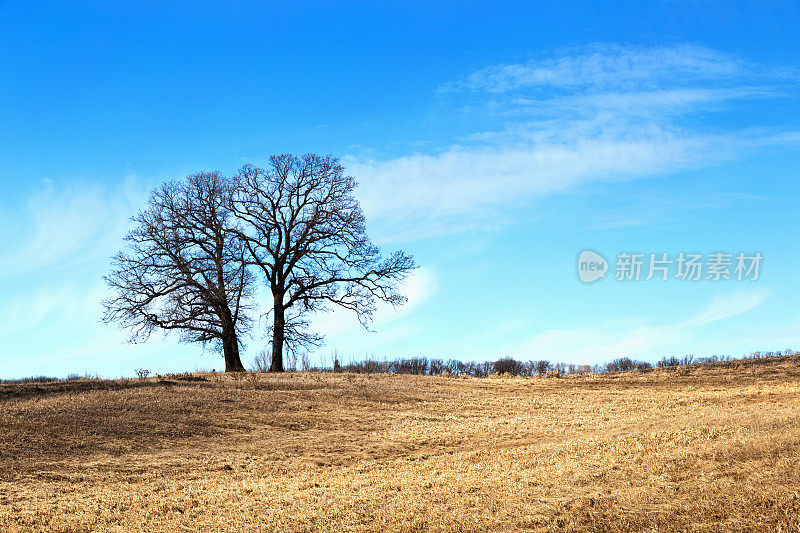
[[[0,385],[0,531],[800,529],[800,359]]]

